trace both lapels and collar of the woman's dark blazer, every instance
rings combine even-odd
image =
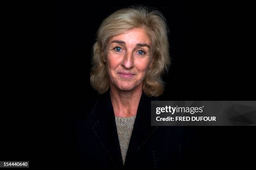
[[[157,98],[148,97],[144,92],[142,93],[125,158],[125,166],[133,162],[133,155],[144,147],[157,130],[156,126],[151,126],[151,100],[157,100]],[[115,125],[114,110],[110,99],[110,90],[100,96],[91,114],[95,117],[92,132],[108,154],[115,168],[122,169],[123,161]]]

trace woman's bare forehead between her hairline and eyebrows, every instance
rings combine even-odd
[[[145,43],[151,45],[151,39],[148,33],[143,28],[132,28],[122,34],[110,37],[109,42],[113,40],[120,40],[125,42],[126,45],[134,45],[137,43]]]

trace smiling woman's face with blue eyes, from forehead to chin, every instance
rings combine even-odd
[[[142,88],[151,55],[151,39],[143,28],[133,28],[110,37],[107,61],[104,59],[110,87],[119,90]]]

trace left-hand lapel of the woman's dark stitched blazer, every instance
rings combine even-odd
[[[94,125],[92,125],[92,132],[105,150],[115,169],[122,169],[123,160],[109,91],[98,100],[95,108],[92,110],[92,115],[96,118]]]

